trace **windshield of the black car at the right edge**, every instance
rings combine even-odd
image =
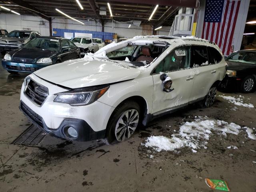
[[[256,52],[237,52],[226,58],[227,61],[256,64]]]

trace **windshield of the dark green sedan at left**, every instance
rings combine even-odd
[[[46,38],[34,38],[26,43],[24,48],[28,49],[43,49],[43,50],[52,50],[59,51],[60,50],[60,40],[57,39],[46,39]]]

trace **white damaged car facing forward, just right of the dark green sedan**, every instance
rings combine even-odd
[[[81,55],[91,52],[94,53],[99,50],[98,44],[90,37],[75,37],[71,40],[76,46],[81,48]]]

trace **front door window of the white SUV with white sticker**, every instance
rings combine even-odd
[[[184,70],[190,67],[190,47],[181,46],[175,48],[156,67],[154,73]]]

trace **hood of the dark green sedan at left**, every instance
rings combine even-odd
[[[33,54],[31,54],[33,52]],[[26,59],[40,59],[40,58],[52,58],[58,52],[53,50],[42,50],[42,49],[27,49],[20,48],[9,52],[12,57],[26,58]]]

